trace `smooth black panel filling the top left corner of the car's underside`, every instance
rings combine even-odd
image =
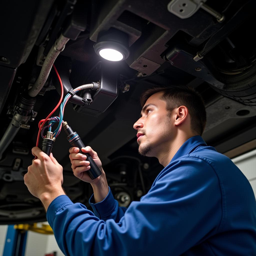
[[[27,60],[53,1],[29,0],[1,3],[0,65],[16,68]],[[1,61],[2,57],[7,60]]]

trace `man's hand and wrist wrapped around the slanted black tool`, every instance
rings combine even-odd
[[[101,202],[109,192],[108,182],[106,180],[106,175],[104,170],[102,169],[102,164],[100,158],[97,153],[92,150],[91,147],[82,147],[82,152],[89,153],[94,160],[95,164],[98,165],[102,174],[96,179],[91,179],[88,173],[86,173],[90,169],[90,162],[86,160],[86,155],[83,155],[79,152],[78,147],[71,147],[69,149],[69,158],[71,161],[71,168],[73,170],[74,175],[88,183],[91,183],[93,192],[94,192],[94,200],[95,202]]]

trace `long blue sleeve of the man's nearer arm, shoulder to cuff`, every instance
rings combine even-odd
[[[118,223],[65,195],[51,202],[47,220],[65,255],[180,255],[217,232],[221,201],[214,169],[186,157],[165,168]]]

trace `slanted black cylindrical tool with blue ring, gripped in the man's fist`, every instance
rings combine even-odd
[[[73,132],[73,130],[71,129],[71,127],[68,125],[67,122],[64,122],[62,127],[64,128],[64,131],[68,135],[67,139],[68,139],[69,143],[71,144],[71,146],[78,147],[79,153],[87,156],[87,161],[90,162],[90,166],[91,166],[91,168],[87,171],[87,173],[89,174],[91,179],[96,179],[97,177],[99,177],[102,174],[102,172],[99,169],[98,165],[95,164],[95,162],[93,161],[90,154],[83,153],[81,151],[81,148],[85,147],[85,145],[83,144],[83,142],[82,142],[81,138],[79,137],[79,135],[77,134],[77,132]]]

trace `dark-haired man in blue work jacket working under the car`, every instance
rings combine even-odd
[[[89,153],[102,175],[91,180],[86,157],[70,149],[73,173],[90,182],[91,212],[65,195],[62,167],[39,148],[25,184],[40,198],[59,247],[66,255],[256,255],[256,202],[232,161],[202,140],[206,112],[187,87],[153,88],[142,97],[134,124],[139,152],[164,169],[141,200],[125,209],[108,187],[97,153]],[[221,113],[220,113],[221,114]]]

